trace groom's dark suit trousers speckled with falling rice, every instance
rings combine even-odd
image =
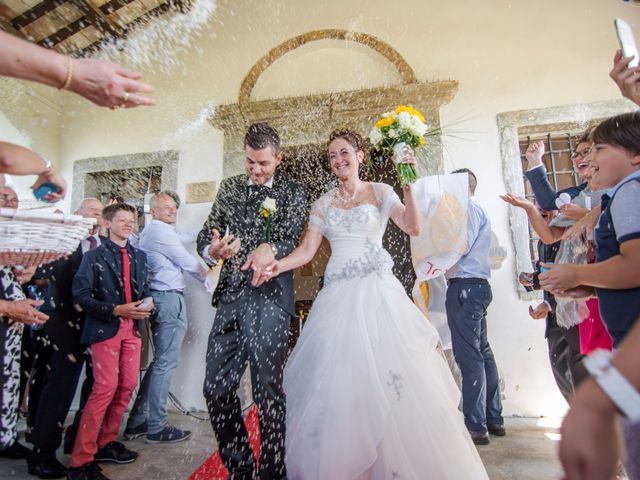
[[[207,349],[204,396],[222,460],[232,478],[286,478],[282,375],[290,315],[260,290],[220,303]],[[260,466],[255,461],[236,393],[247,366],[260,414]]]

